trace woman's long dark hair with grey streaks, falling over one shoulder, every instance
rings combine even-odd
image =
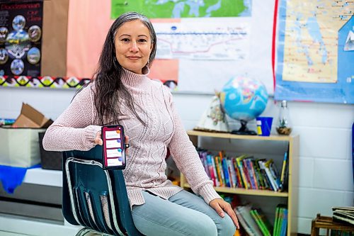
[[[115,57],[115,33],[123,23],[134,20],[142,21],[150,32],[152,52],[146,67],[150,66],[156,55],[156,33],[152,23],[146,16],[130,11],[123,13],[113,22],[105,38],[105,43],[103,44],[101,56],[98,61],[96,79],[94,79],[96,89],[94,103],[101,125],[105,125],[105,118],[112,117],[113,120],[110,121],[113,123],[119,122],[118,115],[120,114],[120,101],[122,98],[127,102],[127,107],[130,111],[145,125],[144,120],[142,120],[135,111],[135,103],[132,95],[127,91],[124,84],[122,84],[121,76],[123,69]]]

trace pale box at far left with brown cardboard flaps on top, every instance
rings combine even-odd
[[[40,163],[38,133],[45,131],[52,120],[32,106],[23,103],[13,126],[0,128],[0,165],[32,167]]]

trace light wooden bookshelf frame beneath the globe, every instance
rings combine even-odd
[[[188,135],[193,145],[198,147],[199,141],[203,137],[211,137],[216,139],[225,140],[259,140],[261,142],[287,142],[289,145],[288,153],[288,190],[287,192],[278,192],[270,190],[256,190],[256,189],[241,189],[229,187],[215,187],[219,193],[232,193],[237,195],[260,196],[260,197],[280,197],[285,198],[288,208],[287,219],[287,235],[295,235],[297,233],[297,199],[298,192],[294,186],[298,186],[298,159],[299,159],[299,136],[298,135],[270,135],[270,136],[256,136],[256,135],[233,135],[231,133],[212,133],[204,131],[189,130]],[[224,142],[224,141],[222,141]],[[282,153],[280,153],[282,154]],[[189,184],[185,180],[185,176],[181,174],[181,187],[183,189],[190,189]],[[266,201],[266,200],[265,200]],[[274,209],[275,210],[275,209]]]

